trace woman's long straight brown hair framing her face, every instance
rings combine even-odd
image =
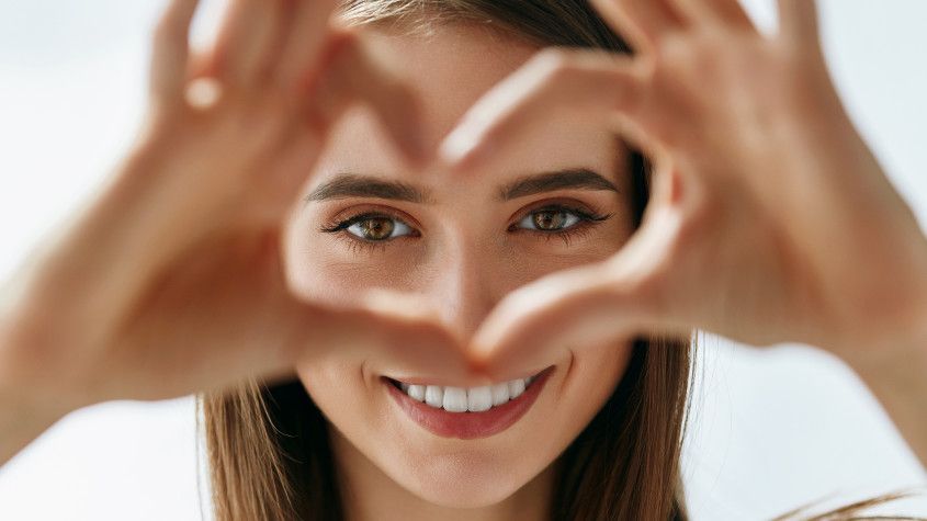
[[[353,25],[479,23],[539,46],[630,53],[585,0],[347,0]],[[634,226],[648,169],[630,158]],[[691,339],[641,338],[602,409],[555,462],[552,519],[686,519],[680,453],[692,381]],[[328,423],[305,387],[255,382],[201,396],[216,519],[343,519]]]

